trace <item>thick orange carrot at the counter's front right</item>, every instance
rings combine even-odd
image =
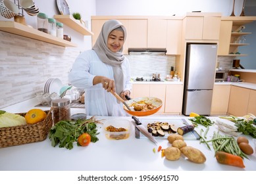
[[[220,164],[227,164],[230,166],[236,166],[240,168],[245,168],[243,165],[243,159],[240,156],[230,154],[228,152],[218,151],[216,154],[216,159]]]

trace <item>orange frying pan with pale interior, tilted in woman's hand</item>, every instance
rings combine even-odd
[[[128,106],[130,107],[132,106],[133,103],[137,103],[139,101],[145,101],[145,103],[150,103],[157,107],[152,110],[135,111],[135,110],[129,110],[128,108],[126,108],[126,106],[123,106],[124,110],[128,114],[131,114],[132,116],[149,116],[151,114],[155,114],[156,112],[158,112],[163,104],[161,99],[157,99],[155,97],[139,97],[139,98],[135,98],[135,99],[131,99],[130,101],[127,101],[126,104],[128,104]]]

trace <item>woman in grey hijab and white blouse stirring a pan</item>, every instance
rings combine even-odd
[[[130,96],[130,64],[122,54],[126,28],[118,20],[103,25],[93,48],[81,53],[72,66],[69,80],[85,89],[86,114],[90,116],[128,116],[111,90],[125,100]]]

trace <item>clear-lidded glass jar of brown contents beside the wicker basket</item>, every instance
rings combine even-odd
[[[69,99],[56,99],[51,101],[53,124],[61,120],[71,120]]]

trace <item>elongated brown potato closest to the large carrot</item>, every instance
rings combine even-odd
[[[188,157],[188,160],[197,164],[203,164],[206,161],[205,155],[201,150],[195,149],[193,147],[183,147],[180,149],[182,154]]]

